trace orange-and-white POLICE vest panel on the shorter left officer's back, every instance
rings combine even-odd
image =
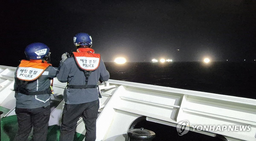
[[[52,64],[42,60],[21,60],[16,72],[17,78],[23,81],[34,81]]]

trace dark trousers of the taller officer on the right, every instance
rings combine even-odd
[[[66,104],[63,108],[59,141],[73,141],[76,123],[80,117],[85,124],[85,141],[96,139],[96,119],[99,100],[82,104]]]

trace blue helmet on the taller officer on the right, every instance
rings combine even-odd
[[[91,48],[93,40],[87,33],[78,33],[74,36],[73,42],[75,46],[82,46],[83,48]]]

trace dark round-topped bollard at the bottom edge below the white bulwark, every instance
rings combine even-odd
[[[127,132],[129,141],[152,141],[156,134],[153,131],[140,128],[140,129],[130,129]]]

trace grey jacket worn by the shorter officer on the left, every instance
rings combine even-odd
[[[42,60],[30,60],[31,62],[41,63]],[[15,71],[15,82],[14,82],[14,90],[15,90],[15,99],[16,99],[16,107],[17,108],[39,108],[43,106],[50,105],[50,92],[42,95],[25,95],[19,92],[19,79],[17,79],[17,67]],[[52,66],[48,66],[45,71],[41,74],[41,76],[34,80],[28,81],[26,84],[26,90],[28,92],[37,92],[44,91],[50,86],[50,79],[56,77],[58,73],[58,68],[54,68]]]

